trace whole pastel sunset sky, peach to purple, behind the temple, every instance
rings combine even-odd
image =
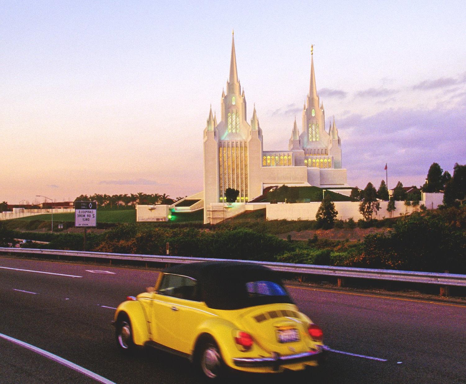
[[[235,30],[248,120],[288,148],[310,45],[348,182],[421,185],[466,158],[466,3],[7,1],[0,13],[0,201],[202,189]],[[301,129],[300,124],[298,127]]]

